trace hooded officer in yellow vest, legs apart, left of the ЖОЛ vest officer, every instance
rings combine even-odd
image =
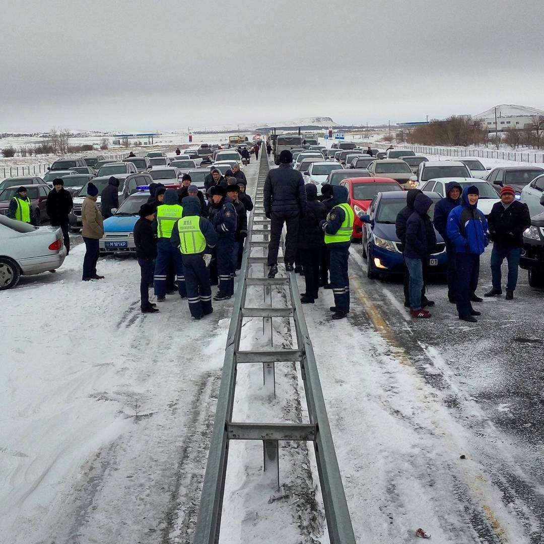
[[[153,223],[157,232],[157,261],[153,277],[157,302],[166,299],[166,275],[172,261],[176,270],[178,292],[182,299],[187,296],[181,254],[170,243],[172,230],[176,221],[182,218],[182,212],[176,189],[166,189],[163,203],[157,207],[157,217]]]

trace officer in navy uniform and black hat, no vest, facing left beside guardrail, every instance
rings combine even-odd
[[[215,186],[210,189],[212,195],[212,225],[218,234],[216,246],[217,273],[219,291],[213,300],[227,300],[234,294],[234,273],[232,252],[234,251],[234,235],[236,234],[236,209],[226,196],[224,187]]]

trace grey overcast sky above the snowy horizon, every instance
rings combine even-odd
[[[542,0],[13,0],[0,132],[544,109]]]

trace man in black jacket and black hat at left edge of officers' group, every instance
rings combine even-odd
[[[149,302],[149,287],[153,285],[155,258],[157,257],[157,239],[151,223],[155,219],[156,208],[152,204],[142,204],[138,215],[140,219],[134,225],[134,245],[140,265],[140,308],[142,313],[157,313],[158,309]]]

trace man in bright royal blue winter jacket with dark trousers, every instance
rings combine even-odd
[[[459,319],[470,323],[476,323],[474,316],[480,315],[473,309],[471,301],[483,300],[476,296],[475,291],[480,274],[480,255],[489,244],[487,220],[477,208],[479,195],[478,187],[465,187],[461,205],[449,213],[446,226],[446,236],[455,249],[457,311]]]

